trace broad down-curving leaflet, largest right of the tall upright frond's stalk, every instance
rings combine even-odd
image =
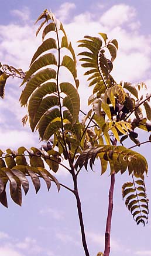
[[[68,82],[60,84],[61,92],[67,95],[63,100],[63,106],[67,107],[70,113],[73,115],[73,122],[78,120],[78,114],[80,111],[80,97],[74,86]]]

